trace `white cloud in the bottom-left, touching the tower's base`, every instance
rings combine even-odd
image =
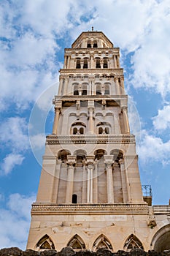
[[[0,248],[18,246],[20,249],[26,249],[31,203],[34,200],[34,196],[9,196],[7,208],[0,209]]]

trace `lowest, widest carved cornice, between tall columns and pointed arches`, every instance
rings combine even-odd
[[[32,205],[32,215],[42,214],[148,214],[149,208],[144,204],[53,204],[34,203]]]

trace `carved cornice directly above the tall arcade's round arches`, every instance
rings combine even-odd
[[[47,135],[46,144],[112,144],[135,143],[134,135]]]

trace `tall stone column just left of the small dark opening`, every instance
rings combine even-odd
[[[67,156],[68,174],[67,174],[67,186],[66,186],[66,203],[72,203],[73,185],[74,185],[74,164],[76,157]]]

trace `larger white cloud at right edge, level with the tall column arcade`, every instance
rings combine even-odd
[[[142,141],[138,149],[139,159],[144,163],[159,162],[169,164],[170,140],[163,142],[159,137],[142,131]]]

